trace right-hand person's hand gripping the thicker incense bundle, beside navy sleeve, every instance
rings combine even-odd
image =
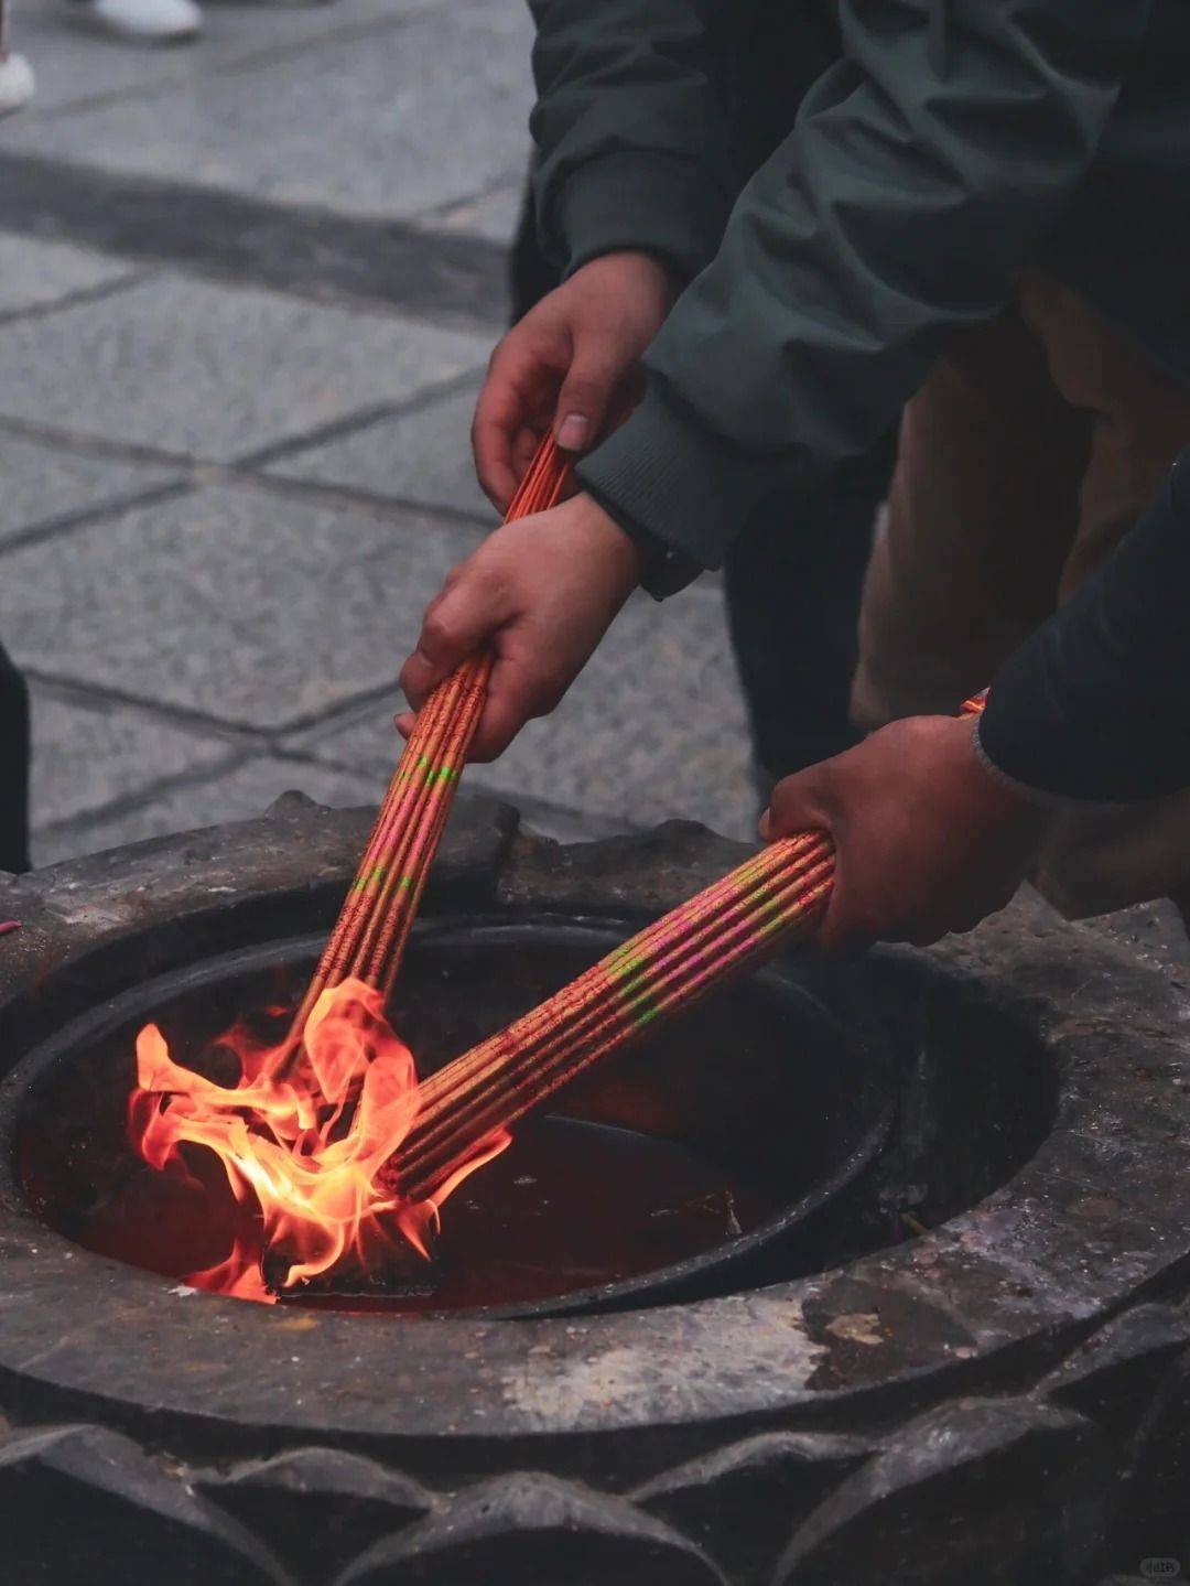
[[[772,841],[824,828],[835,885],[827,950],[936,942],[1003,909],[1032,868],[1047,814],[979,763],[968,720],[917,715],[778,782]]]

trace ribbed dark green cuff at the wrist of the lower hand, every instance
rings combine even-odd
[[[642,528],[704,568],[723,565],[765,496],[797,484],[784,457],[726,441],[656,379],[575,473],[624,528]]]

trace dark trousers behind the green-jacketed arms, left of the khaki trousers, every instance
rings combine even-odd
[[[526,201],[512,249],[513,320],[558,285]],[[864,569],[894,438],[813,496],[749,523],[726,565],[727,620],[762,782],[859,741],[848,722]]]

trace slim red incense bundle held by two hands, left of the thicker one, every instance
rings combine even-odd
[[[505,523],[555,506],[567,479],[569,463],[547,438],[509,506]],[[490,652],[464,661],[418,712],[355,880],[293,1018],[295,1052],[314,1004],[328,986],[352,977],[385,994],[391,991],[483,714],[491,665]]]

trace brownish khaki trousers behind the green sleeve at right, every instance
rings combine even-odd
[[[1190,389],[1066,287],[957,336],[905,409],[864,588],[852,717],[951,714],[1155,500]],[[1190,791],[1058,815],[1036,875],[1070,917],[1190,882]]]

